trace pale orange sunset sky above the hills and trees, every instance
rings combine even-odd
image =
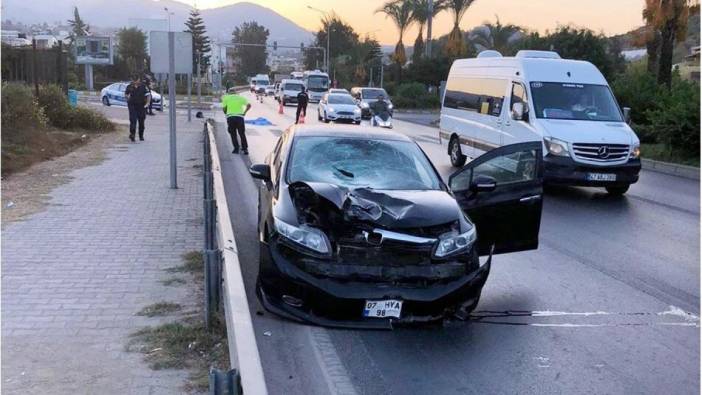
[[[177,0],[199,8],[215,8],[237,3],[237,0]],[[271,8],[310,31],[321,26],[321,14],[308,5],[334,11],[361,36],[369,33],[382,44],[395,44],[398,34],[393,23],[381,13],[375,13],[383,0],[248,0]],[[475,0],[463,17],[461,28],[467,30],[499,16],[503,24],[513,23],[531,30],[544,32],[558,25],[574,24],[606,35],[625,33],[643,24],[641,10],[644,0]],[[449,12],[434,20],[433,36],[448,33],[453,27]],[[404,36],[405,45],[412,45],[417,28]]]

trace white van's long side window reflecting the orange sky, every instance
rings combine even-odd
[[[500,116],[507,80],[450,77],[446,82],[444,107]]]

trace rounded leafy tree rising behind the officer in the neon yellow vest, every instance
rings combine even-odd
[[[270,32],[258,23],[244,22],[232,32],[232,43],[265,45]],[[255,74],[268,72],[266,47],[251,47],[237,45],[232,50],[232,56],[238,65],[235,78],[237,81],[246,81],[246,78]]]

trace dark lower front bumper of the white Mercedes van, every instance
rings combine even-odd
[[[594,166],[575,162],[570,157],[546,155],[544,157],[544,182],[551,185],[589,187],[615,187],[634,184],[639,180],[641,160],[633,159],[624,164]],[[592,181],[589,174],[615,174],[615,181]]]

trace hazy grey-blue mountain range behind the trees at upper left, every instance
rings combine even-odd
[[[173,30],[183,30],[190,7],[172,0],[2,0],[3,19],[25,24],[48,22],[65,25],[73,19],[73,6],[90,26],[120,28],[127,26],[130,18],[159,18],[171,15]],[[252,3],[236,3],[218,8],[201,10],[207,32],[214,41],[231,39],[232,30],[243,22],[256,21],[270,31],[269,41],[279,45],[307,45],[312,33],[296,25],[277,12]]]

